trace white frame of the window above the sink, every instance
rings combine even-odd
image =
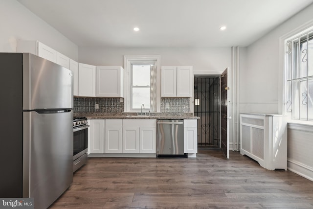
[[[124,112],[137,112],[131,110],[131,68],[132,64],[142,64],[154,61],[156,65],[156,111],[161,110],[161,56],[160,55],[124,55]]]

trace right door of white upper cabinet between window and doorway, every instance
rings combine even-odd
[[[193,73],[192,66],[177,67],[177,96],[192,97]]]

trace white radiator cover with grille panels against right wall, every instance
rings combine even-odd
[[[240,154],[268,170],[287,170],[287,122],[282,115],[240,114]]]

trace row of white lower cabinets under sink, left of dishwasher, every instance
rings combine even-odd
[[[91,156],[156,154],[156,119],[91,119],[89,124]]]

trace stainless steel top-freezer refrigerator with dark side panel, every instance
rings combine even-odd
[[[48,208],[73,181],[73,75],[29,53],[0,53],[0,197]]]

